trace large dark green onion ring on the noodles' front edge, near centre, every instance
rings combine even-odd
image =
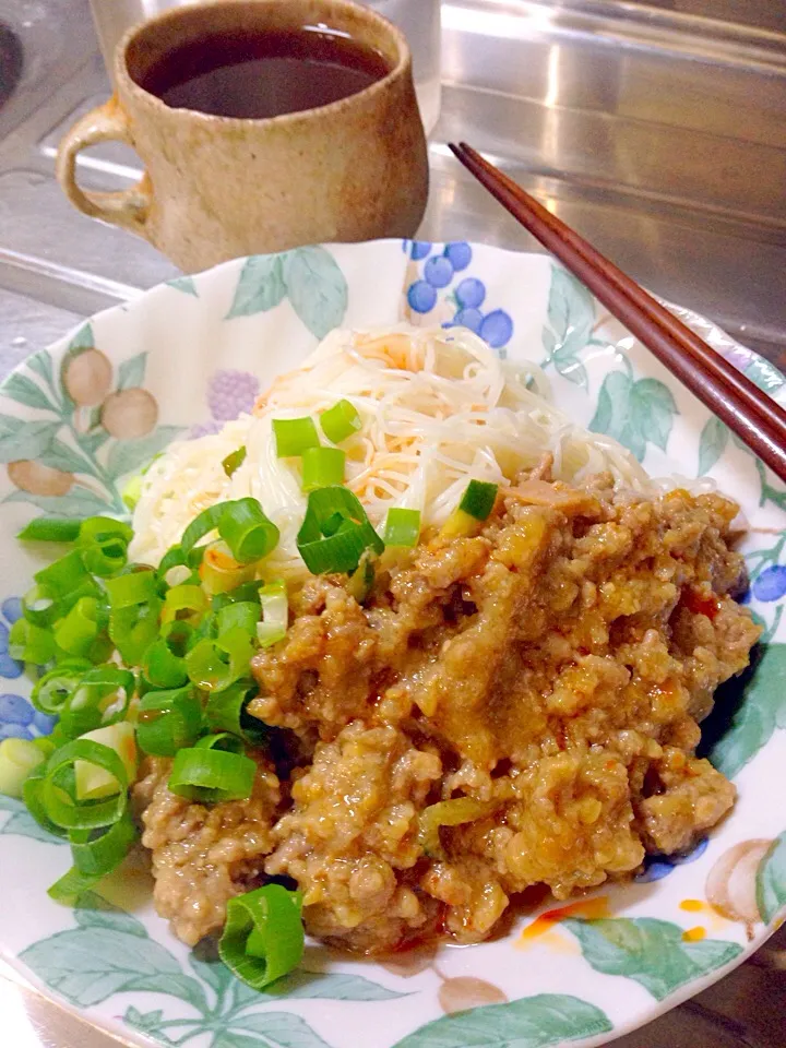
[[[341,523],[334,531],[336,517]],[[366,549],[377,553],[384,543],[371,526],[359,499],[347,488],[311,491],[297,547],[313,575],[355,571]]]

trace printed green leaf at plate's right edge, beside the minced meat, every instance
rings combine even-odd
[[[731,726],[707,757],[727,778],[734,778],[770,741],[775,728],[786,729],[786,644],[767,644],[745,689]]]

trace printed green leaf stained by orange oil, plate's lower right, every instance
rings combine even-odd
[[[596,972],[635,979],[657,1001],[742,952],[736,942],[719,939],[684,942],[679,925],[652,917],[570,917],[563,927],[576,937],[584,958]]]

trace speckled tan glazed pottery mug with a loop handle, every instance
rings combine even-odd
[[[354,41],[374,56],[379,79],[336,102],[263,119],[176,108],[141,86],[167,56],[205,39],[306,29]],[[144,237],[186,272],[305,243],[412,237],[420,224],[428,160],[412,59],[401,32],[367,8],[349,0],[172,8],[123,36],[115,84],[112,98],[60,144],[58,179],[80,211]],[[142,179],[119,192],[82,189],[78,154],[110,140],[136,151]]]

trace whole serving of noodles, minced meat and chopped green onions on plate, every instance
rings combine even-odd
[[[132,526],[28,525],[69,544],[11,635],[60,720],[0,787],[71,843],[50,894],[139,827],[158,913],[262,987],[301,918],[359,953],[479,942],[525,889],[724,818],[695,750],[760,633],[738,507],[547,394],[461,329],[334,332],[133,478]]]

